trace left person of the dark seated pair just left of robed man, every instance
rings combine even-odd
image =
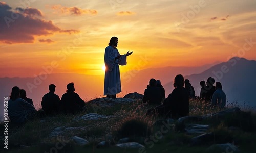
[[[45,94],[42,97],[42,110],[45,111],[46,115],[56,115],[60,112],[60,99],[59,96],[56,95],[55,92],[55,85],[49,85],[49,93]]]

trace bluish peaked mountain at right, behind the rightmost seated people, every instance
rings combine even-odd
[[[208,77],[215,78],[215,81],[221,82],[223,91],[227,95],[229,103],[238,102],[243,105],[256,106],[256,61],[246,60],[245,58],[234,57],[212,66],[211,68],[199,74],[183,75],[185,79],[189,79],[194,86],[196,95],[200,94],[200,81],[206,82]],[[170,93],[173,90],[173,82],[164,85],[166,92]]]

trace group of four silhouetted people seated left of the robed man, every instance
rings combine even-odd
[[[36,111],[33,100],[27,98],[26,91],[15,86],[8,100],[8,117],[12,123],[23,124],[41,116],[55,116],[60,113],[74,114],[86,110],[85,102],[75,93],[74,83],[67,85],[67,92],[59,98],[55,92],[56,86],[49,85],[49,93],[42,97],[42,110]],[[39,112],[39,113],[38,113]]]

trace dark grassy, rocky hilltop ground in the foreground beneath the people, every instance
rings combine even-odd
[[[256,149],[256,115],[253,113],[235,111],[224,117],[217,115],[207,116],[204,120],[186,118],[180,121],[145,117],[146,110],[155,106],[142,105],[140,99],[117,98],[115,102],[109,98],[94,99],[86,103],[87,111],[75,115],[38,118],[18,127],[9,123],[8,151],[252,152]],[[210,109],[202,101],[190,99],[190,116],[219,111],[222,110]],[[199,131],[189,130],[191,126]],[[4,139],[4,125],[0,130]],[[201,134],[205,134],[204,137],[195,138]],[[135,148],[116,146],[125,137],[122,141],[137,142],[132,146]],[[213,144],[225,144],[225,148]],[[6,151],[4,146],[1,143],[1,152]]]

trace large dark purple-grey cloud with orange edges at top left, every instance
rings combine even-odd
[[[35,37],[48,36],[55,33],[78,33],[78,30],[61,29],[51,20],[41,19],[42,13],[34,8],[12,8],[0,2],[0,42],[13,43],[33,43]],[[22,12],[22,13],[20,13]],[[37,17],[40,18],[37,18]]]

